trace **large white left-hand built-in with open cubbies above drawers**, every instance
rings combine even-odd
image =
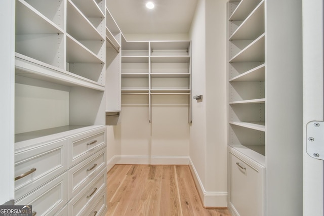
[[[106,210],[105,14],[105,0],[16,0],[15,203],[37,215]]]

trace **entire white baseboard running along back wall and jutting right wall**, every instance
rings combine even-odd
[[[226,207],[227,192],[208,192],[205,191],[200,181],[198,173],[188,156],[134,156],[134,155],[115,155],[107,161],[107,171],[115,164],[175,164],[189,165],[195,181],[199,196],[205,207]]]

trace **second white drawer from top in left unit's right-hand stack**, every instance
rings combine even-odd
[[[69,199],[92,181],[106,168],[106,149],[91,155],[87,160],[73,166],[69,171]]]

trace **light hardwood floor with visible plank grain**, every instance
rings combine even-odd
[[[107,205],[105,216],[230,216],[203,207],[188,165],[114,165]]]

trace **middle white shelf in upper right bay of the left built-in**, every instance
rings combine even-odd
[[[92,1],[92,0],[91,0]],[[93,24],[80,12],[76,6],[68,0],[67,4],[67,27],[68,34],[77,40],[105,40],[102,34]],[[76,24],[77,23],[77,24]]]

